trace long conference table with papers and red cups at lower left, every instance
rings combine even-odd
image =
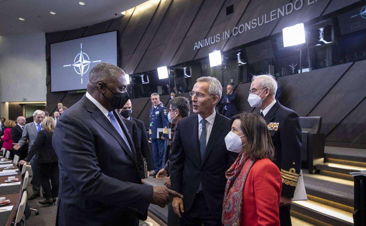
[[[6,170],[5,166],[13,165],[14,169]],[[4,171],[7,171],[4,173]],[[17,173],[16,175],[11,175]],[[5,183],[5,180],[8,179],[8,177],[15,176],[15,178],[18,178],[18,183],[14,182],[13,185],[10,185],[12,183]],[[19,184],[20,182],[20,184]],[[8,186],[4,186],[8,185]],[[1,205],[0,206],[0,226],[10,226],[16,212],[18,211],[18,206],[20,203],[20,199],[22,198],[22,175],[18,167],[11,161],[11,160],[5,160],[4,162],[0,162],[0,197],[5,197],[6,200],[10,200],[10,203]]]

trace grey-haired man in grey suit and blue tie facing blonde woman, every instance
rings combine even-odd
[[[36,110],[33,113],[33,122],[25,124],[23,128],[22,138],[15,143],[14,150],[18,151],[23,145],[26,144],[27,140],[29,140],[29,149],[32,147],[34,140],[36,140],[37,134],[42,129],[42,121],[45,116],[45,112],[41,110]],[[28,149],[28,150],[29,150]],[[39,165],[37,162],[38,153],[36,153],[33,158],[30,160],[30,165],[32,166],[32,181],[31,184],[33,194],[29,197],[28,200],[36,199],[40,197],[41,190],[41,182],[40,182],[40,173],[39,173]]]

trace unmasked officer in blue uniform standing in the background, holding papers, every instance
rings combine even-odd
[[[168,139],[168,111],[160,102],[159,95],[152,93],[150,96],[153,107],[150,108],[150,125],[149,125],[149,138],[153,147],[153,162],[154,169],[157,173],[164,167],[165,156],[167,155],[167,139]],[[163,134],[157,138],[158,128],[163,128]],[[151,174],[150,174],[151,175]]]

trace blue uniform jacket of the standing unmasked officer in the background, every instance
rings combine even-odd
[[[168,110],[163,104],[158,104],[155,107],[150,108],[149,111],[150,121],[149,121],[149,137],[156,139],[157,129],[163,128],[163,137],[168,138]]]

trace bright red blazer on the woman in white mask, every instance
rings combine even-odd
[[[255,162],[245,181],[241,225],[279,226],[281,188],[281,173],[275,163],[268,158]]]

